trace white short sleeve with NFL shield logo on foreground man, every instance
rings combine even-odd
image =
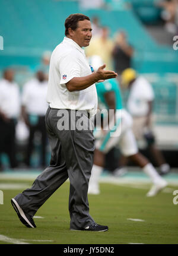
[[[59,72],[61,75],[60,84],[66,84],[74,77],[81,77],[79,56],[69,52],[59,61]]]

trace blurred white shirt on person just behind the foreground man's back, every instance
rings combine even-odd
[[[24,84],[21,103],[31,115],[44,116],[48,108],[46,101],[47,81],[40,82],[33,78]]]

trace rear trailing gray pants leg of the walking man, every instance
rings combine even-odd
[[[51,146],[50,165],[36,178],[31,188],[18,194],[15,200],[25,213],[34,216],[36,211],[68,179],[65,159],[63,157],[61,141],[50,125],[50,109],[46,113],[46,129]],[[55,125],[55,124],[53,124]]]

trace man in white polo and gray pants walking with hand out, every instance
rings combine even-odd
[[[50,59],[46,129],[52,149],[50,165],[31,188],[12,198],[21,222],[36,227],[33,216],[66,179],[70,181],[71,230],[106,231],[89,214],[88,182],[94,157],[94,136],[90,117],[97,112],[95,83],[117,77],[102,65],[91,72],[82,47],[91,40],[90,18],[71,14],[65,20],[65,36]],[[82,118],[82,122],[80,119]]]

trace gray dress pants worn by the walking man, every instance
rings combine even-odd
[[[61,115],[59,111],[65,113]],[[82,121],[78,113],[82,115]],[[47,109],[45,121],[52,149],[50,165],[31,188],[14,197],[24,213],[34,216],[47,198],[69,178],[71,229],[85,228],[94,223],[89,214],[87,193],[95,147],[87,115],[87,111]]]

